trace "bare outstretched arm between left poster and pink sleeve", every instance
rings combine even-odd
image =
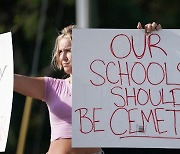
[[[14,75],[14,91],[25,96],[42,100],[44,98],[44,78]]]

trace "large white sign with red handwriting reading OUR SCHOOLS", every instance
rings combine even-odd
[[[73,31],[73,147],[180,148],[180,30]]]

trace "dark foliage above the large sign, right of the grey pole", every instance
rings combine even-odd
[[[164,28],[178,28],[180,24],[178,0],[99,0],[98,5],[100,27],[136,28],[138,21],[156,21]]]

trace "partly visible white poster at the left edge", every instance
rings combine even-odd
[[[13,98],[11,33],[0,34],[0,152],[5,151]]]

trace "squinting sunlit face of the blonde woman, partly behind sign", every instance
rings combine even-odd
[[[58,64],[63,67],[67,74],[72,74],[72,52],[71,40],[69,37],[63,37],[58,43],[56,58]]]

